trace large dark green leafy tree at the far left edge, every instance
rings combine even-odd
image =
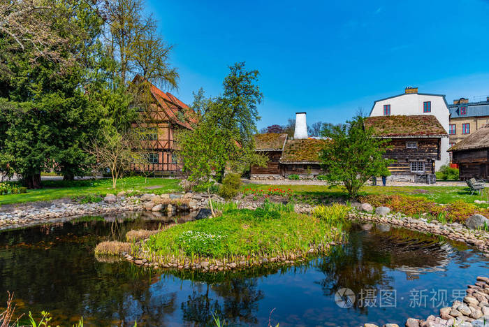
[[[101,47],[97,38],[103,21],[84,1],[50,1],[50,8],[50,31],[63,42],[47,43],[43,51],[62,60],[38,57],[40,49],[26,43],[22,51],[4,54],[12,74],[0,80],[6,90],[0,170],[15,171],[32,188],[41,187],[44,170],[54,168],[67,179],[89,171],[83,147],[99,120],[86,86],[90,72],[98,69],[93,50]],[[0,34],[0,44],[12,48],[17,43]]]

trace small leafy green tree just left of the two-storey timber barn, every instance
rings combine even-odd
[[[372,129],[365,129],[363,122],[363,117],[358,116],[323,133],[331,138],[320,154],[326,180],[343,184],[349,198],[355,198],[370,177],[390,175],[390,161],[383,157],[388,140],[373,138]]]

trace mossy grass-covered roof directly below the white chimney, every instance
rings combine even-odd
[[[282,152],[281,163],[320,163],[319,152],[330,142],[329,140],[316,140],[305,138],[301,140],[288,140]]]

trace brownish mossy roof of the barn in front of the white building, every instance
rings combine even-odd
[[[372,127],[379,138],[448,137],[437,117],[433,115],[394,115],[365,118],[365,127]]]

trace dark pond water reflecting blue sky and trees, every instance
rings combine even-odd
[[[189,217],[177,217],[179,222]],[[352,224],[349,243],[302,266],[203,275],[155,272],[124,261],[97,261],[102,240],[175,217],[133,213],[85,217],[0,232],[0,307],[15,292],[17,314],[51,312],[71,326],[209,326],[212,313],[231,326],[404,325],[437,313],[488,275],[474,249],[402,228]],[[335,293],[353,291],[342,302]]]

